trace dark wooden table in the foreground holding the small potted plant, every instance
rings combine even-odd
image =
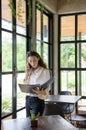
[[[29,118],[2,121],[2,130],[78,130],[60,115],[41,116],[38,127],[31,127]]]

